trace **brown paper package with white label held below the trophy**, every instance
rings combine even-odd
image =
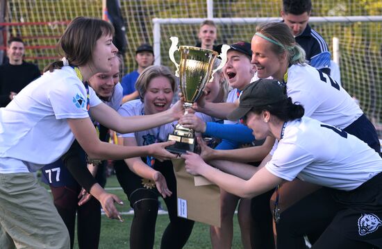
[[[182,158],[172,160],[176,176],[178,216],[220,227],[220,189],[202,176],[185,171]]]

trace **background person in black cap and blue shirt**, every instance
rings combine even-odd
[[[154,51],[150,44],[142,44],[138,46],[135,51],[135,61],[138,64],[138,69],[126,74],[122,78],[122,87],[124,88],[124,98],[122,98],[122,103],[131,101],[138,98],[138,92],[135,90],[135,81],[137,81],[140,73],[147,67],[153,65],[154,62]]]

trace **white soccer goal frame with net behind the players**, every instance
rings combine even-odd
[[[152,19],[155,64],[173,68],[169,37],[177,36],[178,45],[194,46],[205,19]],[[250,42],[257,24],[281,21],[280,17],[210,19],[217,24],[217,44]],[[332,59],[340,66],[342,86],[378,128],[382,122],[382,16],[310,17],[309,23],[328,43]]]

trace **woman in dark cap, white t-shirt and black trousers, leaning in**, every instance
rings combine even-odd
[[[186,170],[243,198],[258,196],[294,178],[321,185],[322,189],[306,199],[313,209],[319,205],[319,212],[329,214],[327,219],[317,219],[319,212],[301,210],[297,216],[293,214],[300,225],[295,232],[326,227],[313,245],[315,249],[382,248],[381,157],[354,135],[303,115],[304,107],[292,103],[281,83],[258,80],[243,90],[239,107],[229,119],[244,117],[256,138],[279,140],[272,160],[257,168],[229,162],[217,171],[199,155],[187,153],[182,155]],[[291,215],[283,213],[281,220]],[[283,236],[290,227],[278,223],[276,228],[277,248],[305,248],[304,239]]]

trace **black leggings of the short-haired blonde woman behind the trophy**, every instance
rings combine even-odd
[[[167,187],[172,191],[172,196],[164,198],[170,222],[163,233],[160,248],[183,248],[190,237],[194,221],[177,216],[176,178],[172,162],[156,161],[155,169],[165,176]],[[153,248],[160,194],[155,187],[153,189],[143,187],[142,178],[131,172],[123,161],[115,163],[115,173],[134,209],[130,230],[130,248]]]

